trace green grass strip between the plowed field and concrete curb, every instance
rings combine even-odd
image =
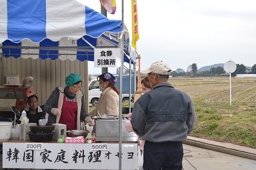
[[[193,102],[197,121],[191,133],[218,140],[228,139],[246,145],[256,145],[255,104]],[[230,116],[232,115],[232,116]]]

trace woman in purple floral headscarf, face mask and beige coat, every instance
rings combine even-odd
[[[102,91],[96,109],[89,113],[89,116],[98,116],[103,114],[119,115],[119,90],[115,86],[117,79],[111,73],[104,73],[97,77],[99,89]],[[95,133],[95,126],[92,134]]]

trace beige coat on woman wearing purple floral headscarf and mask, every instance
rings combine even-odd
[[[96,109],[89,113],[89,116],[98,116],[97,111],[100,115],[113,114],[119,115],[119,96],[111,87],[105,89],[99,97],[99,101],[96,105]],[[95,133],[95,125],[92,129],[92,134]]]

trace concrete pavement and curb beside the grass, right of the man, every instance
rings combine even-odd
[[[256,149],[188,136],[184,170],[256,170]]]

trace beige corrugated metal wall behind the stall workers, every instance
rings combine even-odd
[[[3,63],[4,62],[4,63]],[[4,69],[3,69],[4,68]],[[70,60],[42,60],[42,59],[15,59],[14,57],[0,60],[1,80],[0,83],[6,84],[6,75],[20,75],[20,84],[28,77],[32,76],[34,81],[29,83],[34,87],[34,93],[38,95],[39,106],[44,104],[57,86],[65,85],[65,79],[70,73],[79,74],[83,84],[81,91],[85,94],[85,106],[89,111],[88,102],[88,61]],[[87,89],[87,91],[85,91]],[[87,97],[86,97],[87,96]]]

